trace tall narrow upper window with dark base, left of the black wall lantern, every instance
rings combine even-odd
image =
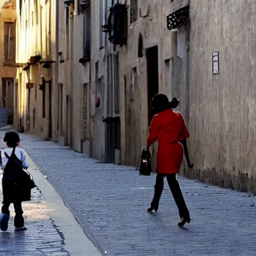
[[[83,57],[90,57],[90,8],[83,12]]]

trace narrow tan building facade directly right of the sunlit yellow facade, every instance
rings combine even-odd
[[[58,83],[63,85],[62,98],[62,130],[66,144],[75,151],[82,151],[83,141],[83,84],[89,82],[89,63],[79,63],[83,54],[83,13],[77,13],[77,9],[70,5],[69,31],[70,57],[66,56],[66,14],[63,1],[58,2]],[[62,59],[62,61],[60,61]],[[67,103],[68,97],[68,103]],[[86,102],[88,98],[86,98]],[[59,118],[60,120],[60,118]],[[88,122],[88,117],[87,120]]]

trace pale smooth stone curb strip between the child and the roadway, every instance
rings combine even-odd
[[[25,154],[29,164],[28,171],[33,176],[36,185],[41,190],[48,204],[48,214],[64,236],[64,249],[71,256],[101,256],[102,254],[84,234],[82,227],[72,212],[66,207],[54,187],[44,177],[26,151]]]

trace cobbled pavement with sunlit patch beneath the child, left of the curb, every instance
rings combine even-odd
[[[2,142],[0,134],[0,147]],[[1,175],[0,175],[1,179]],[[0,185],[0,201],[2,191]],[[0,231],[0,255],[2,256],[64,256],[69,255],[63,248],[64,237],[59,233],[53,221],[49,218],[48,207],[43,195],[36,188],[31,191],[31,201],[22,203],[26,231],[14,232],[14,209],[10,206],[8,230]]]

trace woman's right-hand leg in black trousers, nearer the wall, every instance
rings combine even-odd
[[[181,189],[176,179],[176,173],[166,175],[172,196],[177,204],[180,218],[189,219],[189,211],[186,207]],[[189,219],[190,220],[190,219]]]

